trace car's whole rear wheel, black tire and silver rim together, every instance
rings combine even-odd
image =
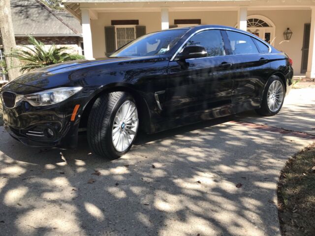
[[[278,76],[272,76],[266,85],[261,107],[256,112],[262,116],[274,116],[284,104],[284,83]]]

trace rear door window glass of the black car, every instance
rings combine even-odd
[[[226,30],[226,33],[230,40],[233,55],[258,53],[258,49],[252,41],[252,37],[228,30]]]

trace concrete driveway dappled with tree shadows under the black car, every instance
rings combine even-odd
[[[0,235],[280,235],[278,177],[315,141],[314,104],[315,89],[295,89],[276,117],[141,135],[112,162],[84,136],[78,150],[41,150],[0,127]]]

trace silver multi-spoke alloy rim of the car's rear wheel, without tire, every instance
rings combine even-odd
[[[277,112],[284,100],[284,87],[279,80],[275,80],[271,83],[267,94],[268,108],[272,112]]]

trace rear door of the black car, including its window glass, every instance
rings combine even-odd
[[[269,47],[252,36],[225,30],[233,59],[234,112],[256,108],[270,75]]]

